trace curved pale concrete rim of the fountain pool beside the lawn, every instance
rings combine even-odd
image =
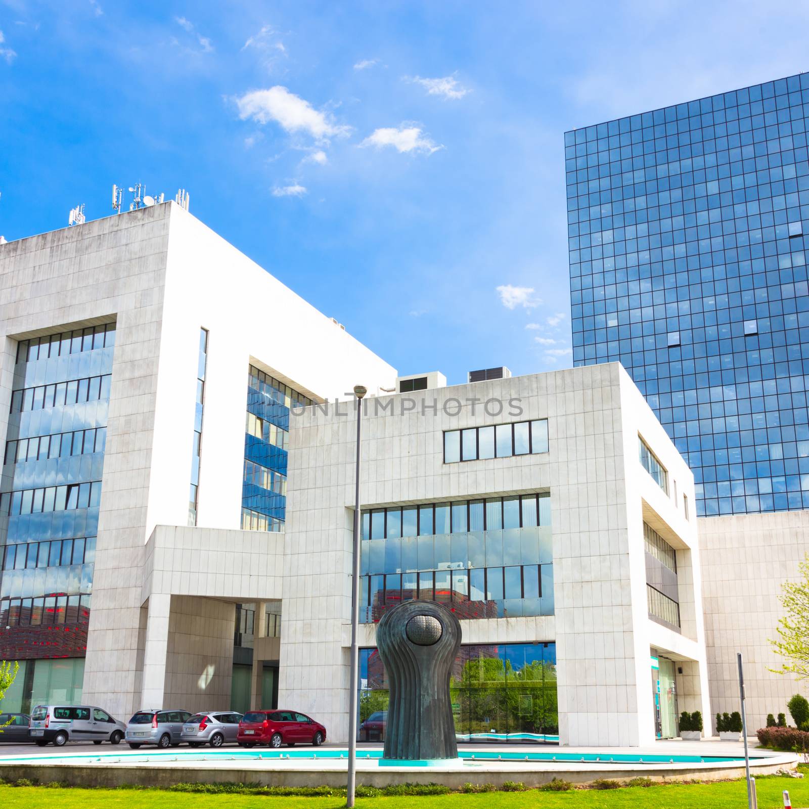
[[[753,775],[769,775],[779,769],[794,769],[798,764],[793,753],[756,750],[751,760]],[[255,759],[236,760],[227,752],[205,756],[193,764],[171,753],[144,756],[140,753],[103,754],[82,764],[65,756],[44,755],[36,761],[0,760],[0,777],[7,781],[28,778],[48,783],[61,781],[71,786],[174,786],[178,783],[249,783],[260,786],[345,786],[345,760]],[[548,762],[524,760],[477,760],[459,763],[452,768],[423,769],[408,767],[379,768],[376,760],[359,759],[358,783],[365,786],[388,786],[403,783],[435,783],[459,788],[465,783],[502,786],[505,781],[522,781],[525,786],[541,786],[553,778],[587,784],[597,778],[627,781],[634,777],[650,777],[654,781],[719,781],[744,776],[743,761],[705,763],[626,764],[625,762]]]

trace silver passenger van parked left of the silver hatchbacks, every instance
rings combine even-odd
[[[112,742],[124,738],[126,726],[95,705],[37,705],[28,722],[28,735],[40,748],[53,742]]]

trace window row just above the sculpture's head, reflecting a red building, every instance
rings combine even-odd
[[[553,565],[362,576],[360,619],[379,621],[385,609],[423,599],[446,604],[459,618],[553,615]],[[506,604],[502,604],[506,602]]]

